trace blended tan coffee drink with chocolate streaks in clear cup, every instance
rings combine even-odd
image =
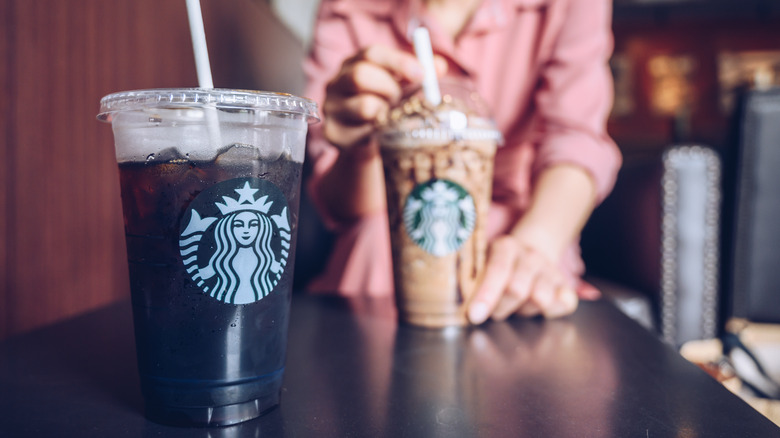
[[[445,93],[437,107],[414,95],[379,133],[396,302],[414,325],[466,325],[485,267],[501,134],[464,95]]]

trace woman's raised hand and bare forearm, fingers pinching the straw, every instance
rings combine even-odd
[[[447,64],[436,58],[444,74]],[[420,84],[422,67],[411,53],[371,46],[348,58],[326,87],[323,135],[340,153],[317,190],[330,216],[351,221],[385,209],[379,149],[371,137],[377,122]]]

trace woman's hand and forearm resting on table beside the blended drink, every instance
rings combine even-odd
[[[595,185],[572,165],[557,165],[538,178],[531,206],[511,233],[489,246],[485,276],[469,304],[474,324],[517,313],[556,318],[573,313],[579,299],[560,268],[593,211]]]

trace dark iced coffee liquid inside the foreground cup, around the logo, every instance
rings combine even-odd
[[[139,370],[147,409],[152,416],[157,412],[156,419],[187,423],[177,411],[252,400],[263,411],[278,403],[301,171],[302,164],[288,157],[231,157],[230,148],[206,163],[158,154],[119,165]],[[243,305],[204,293],[186,272],[179,247],[181,221],[193,199],[235,178],[276,185],[286,197],[292,228],[279,283]]]

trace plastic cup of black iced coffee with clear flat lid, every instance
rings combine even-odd
[[[279,403],[316,105],[233,90],[106,96],[147,416],[227,425]]]

